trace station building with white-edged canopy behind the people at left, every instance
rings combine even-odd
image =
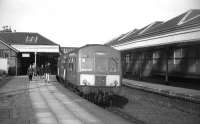
[[[30,65],[56,73],[59,45],[38,33],[0,32],[0,70],[9,75],[25,75]]]

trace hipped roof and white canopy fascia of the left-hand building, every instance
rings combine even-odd
[[[59,45],[38,33],[0,32],[6,44],[19,52],[59,53]]]

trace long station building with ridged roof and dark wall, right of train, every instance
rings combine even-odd
[[[133,29],[106,44],[121,51],[124,78],[200,81],[200,10]]]

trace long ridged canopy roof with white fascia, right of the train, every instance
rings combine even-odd
[[[200,9],[192,9],[168,21],[155,21],[144,28],[124,33],[106,45],[128,50],[169,44],[194,43],[200,40]]]

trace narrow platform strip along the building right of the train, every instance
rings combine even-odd
[[[161,95],[176,97],[180,99],[189,100],[195,103],[200,103],[200,90],[193,90],[187,88],[173,87],[161,84],[152,84],[143,81],[135,81],[123,79],[123,84],[128,87],[142,89]]]

